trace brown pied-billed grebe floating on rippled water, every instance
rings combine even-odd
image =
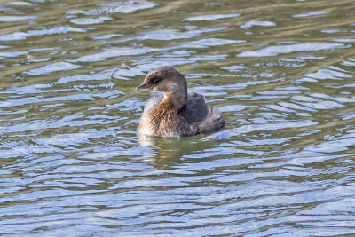
[[[172,67],[159,67],[146,75],[136,91],[159,91],[149,100],[138,125],[138,133],[161,137],[185,137],[218,130],[225,120],[208,107],[201,94],[187,93],[185,76]]]

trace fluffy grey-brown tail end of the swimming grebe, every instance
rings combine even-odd
[[[202,122],[194,124],[198,133],[206,133],[213,130],[219,130],[225,126],[225,119],[216,108],[209,107],[209,113]]]

